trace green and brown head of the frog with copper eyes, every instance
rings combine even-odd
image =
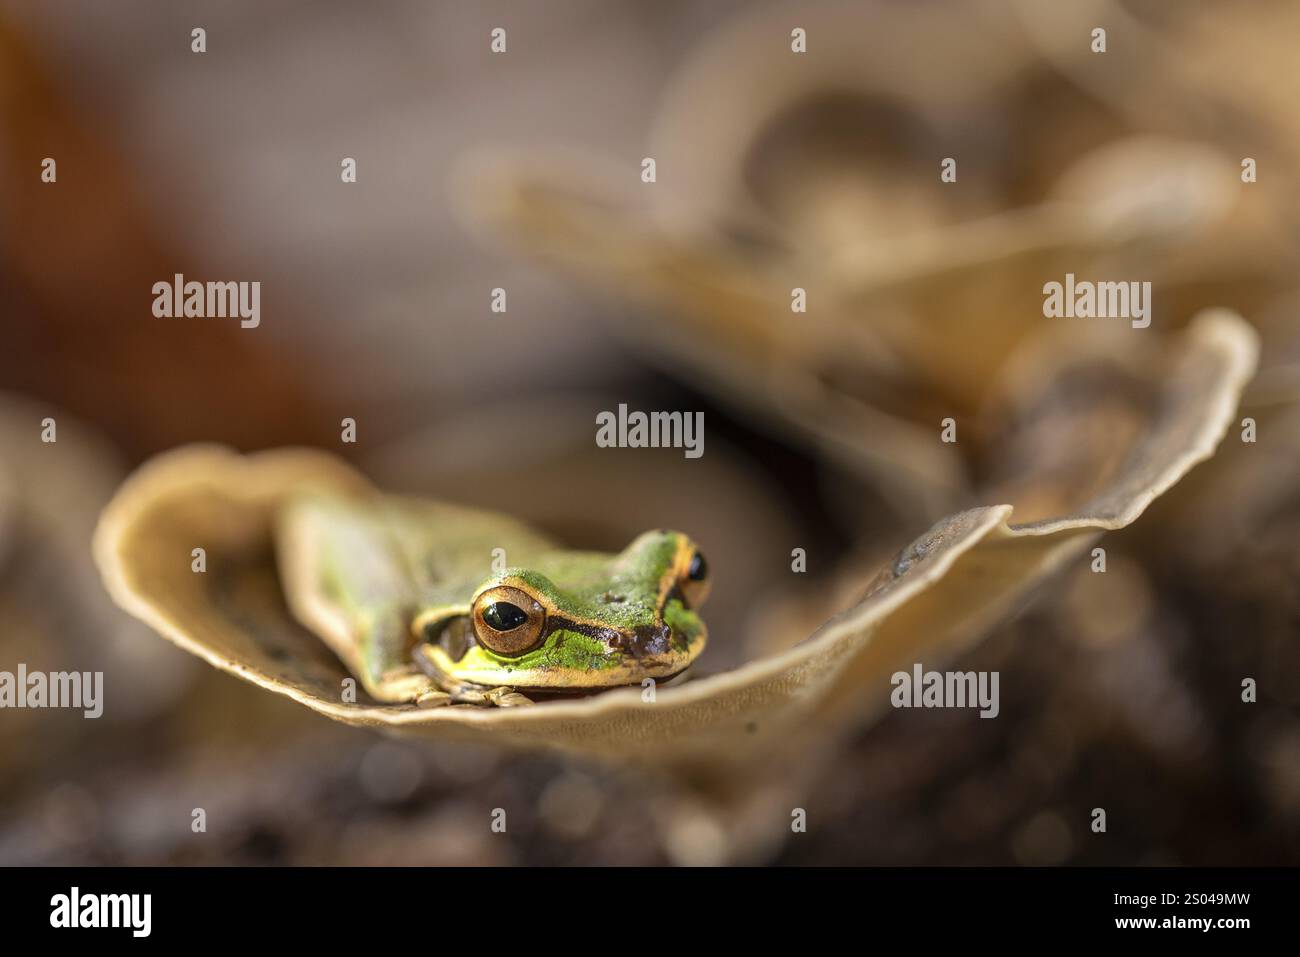
[[[468,605],[416,615],[424,662],[452,681],[581,692],[667,679],[705,648],[708,567],[680,532],[616,555],[555,551],[491,575]]]

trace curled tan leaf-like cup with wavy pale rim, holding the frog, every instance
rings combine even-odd
[[[1005,505],[949,516],[883,570],[857,605],[800,645],[659,689],[654,702],[638,689],[504,710],[343,702],[347,675],[290,618],[270,540],[272,518],[290,490],[370,490],[324,452],[240,456],[188,446],[161,455],[104,511],[95,554],[127,611],[211,664],[335,720],[725,776],[725,768],[772,762],[807,733],[879,711],[890,674],[968,645],[1091,538],[1134,521],[1209,456],[1253,368],[1253,334],[1239,319],[1216,313],[1169,347],[1184,359],[1154,397],[1141,439],[1076,511],[1032,524],[1014,524]],[[199,545],[208,555],[204,575],[190,568]]]

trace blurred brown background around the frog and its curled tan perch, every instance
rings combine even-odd
[[[1156,280],[1153,335],[1209,306],[1260,329],[1258,450],[1108,540],[1121,573],[1066,573],[961,662],[1001,671],[1000,719],[862,729],[810,781],[809,832],[763,859],[1300,861],[1300,17],[1045,7],[0,3],[0,670],[107,685],[99,720],[0,713],[0,863],[746,859],[663,781],[387,740],[216,672],[109,602],[99,510],[148,456],[218,441],[329,449],[381,486],[588,547],[682,528],[714,568],[702,663],[719,671],[810,633],[846,579],[946,511],[1044,468],[1088,473],[1039,443],[1036,416],[1110,436],[1132,412],[1115,384],[1141,371],[1015,378],[1034,350],[1069,352],[1036,337],[1044,277],[1075,263]],[[792,60],[801,25],[815,65]],[[647,204],[651,155],[667,199]],[[949,155],[959,190],[939,182]],[[504,209],[474,178],[498,163]],[[607,182],[584,163],[624,169],[625,195],[582,208]],[[542,168],[537,200],[520,182]],[[608,261],[572,209],[610,239],[595,252],[673,268],[592,280]],[[835,308],[777,334],[790,270]],[[174,273],[260,281],[260,326],[155,319]],[[767,283],[785,290],[772,316],[749,304]],[[996,337],[975,332],[985,316]],[[706,455],[594,447],[595,413],[621,402],[702,410]],[[923,437],[950,411],[979,425],[936,456]],[[499,468],[502,443],[526,464]],[[481,824],[498,806],[507,835]]]

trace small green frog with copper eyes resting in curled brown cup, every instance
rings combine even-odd
[[[502,512],[321,489],[290,495],[273,529],[289,611],[376,702],[515,707],[667,684],[707,642],[708,563],[672,529],[571,550]]]

